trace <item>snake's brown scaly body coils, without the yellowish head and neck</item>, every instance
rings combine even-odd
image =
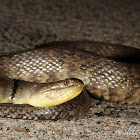
[[[128,46],[92,41],[52,42],[32,50],[2,55],[0,77],[35,83],[77,78],[98,99],[139,104],[139,61],[140,49]],[[89,106],[89,95],[82,93],[71,101],[49,108],[0,104],[0,117],[79,118]]]

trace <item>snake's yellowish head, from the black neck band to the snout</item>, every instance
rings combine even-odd
[[[14,104],[29,104],[34,107],[56,106],[78,96],[84,87],[84,83],[75,78],[54,83],[34,84],[32,87],[28,84],[24,82],[21,86],[22,92],[19,86],[19,90],[13,101]],[[23,90],[24,86],[26,87],[26,91]]]

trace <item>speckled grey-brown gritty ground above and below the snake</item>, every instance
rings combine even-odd
[[[0,52],[57,40],[95,40],[140,48],[138,0],[0,0]],[[138,140],[140,105],[93,100],[79,120],[0,118],[1,140]]]

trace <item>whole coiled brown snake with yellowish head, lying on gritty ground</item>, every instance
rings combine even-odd
[[[56,41],[0,55],[0,117],[80,118],[91,96],[140,103],[140,49],[95,41]]]

